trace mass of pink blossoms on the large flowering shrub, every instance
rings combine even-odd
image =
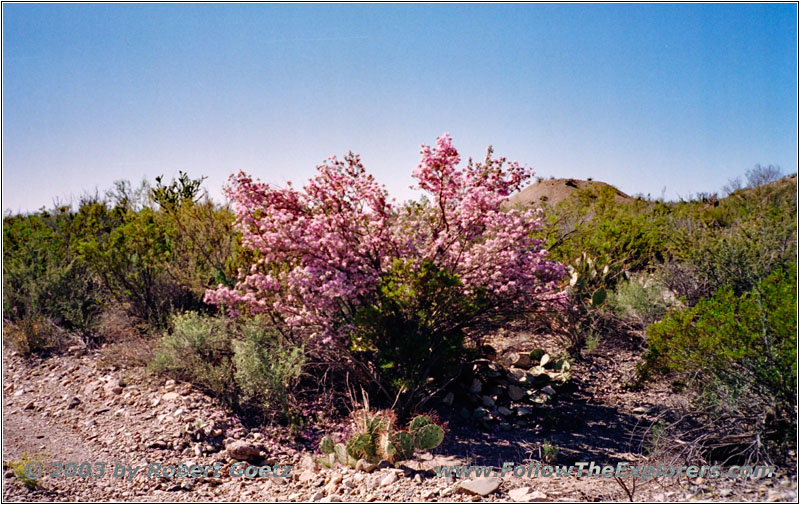
[[[455,273],[464,296],[485,289],[490,317],[558,301],[566,270],[532,237],[538,211],[501,208],[530,170],[493,159],[491,149],[459,169],[448,134],[421,153],[414,177],[430,196],[397,209],[353,153],[329,158],[301,191],[231,176],[226,194],[253,262],[233,289],[209,290],[206,302],[269,311],[316,342],[346,344],[356,311],[374,301],[397,258]]]

